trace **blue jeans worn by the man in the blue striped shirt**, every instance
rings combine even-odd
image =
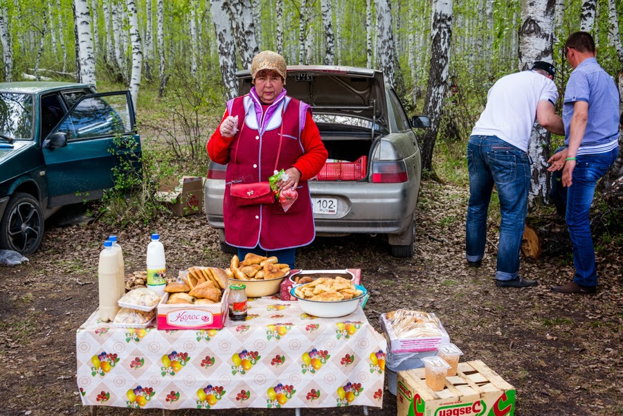
[[[618,147],[607,153],[580,154],[572,174],[572,185],[567,190],[567,228],[573,243],[573,281],[582,286],[597,286],[595,249],[590,235],[588,211],[593,203],[595,186],[614,163]]]

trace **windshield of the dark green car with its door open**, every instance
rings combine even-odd
[[[33,96],[0,93],[0,134],[15,140],[33,140]]]

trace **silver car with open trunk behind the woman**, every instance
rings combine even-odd
[[[240,95],[251,89],[249,71],[237,73]],[[413,127],[395,91],[373,69],[288,66],[288,95],[309,104],[329,158],[309,181],[316,235],[387,234],[395,257],[412,257],[421,160]],[[226,165],[210,162],[204,206],[210,226],[225,242],[223,195]]]

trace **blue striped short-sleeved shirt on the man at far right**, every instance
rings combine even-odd
[[[569,145],[569,126],[573,106],[588,102],[586,132],[577,154],[604,153],[617,147],[619,138],[619,91],[613,79],[592,57],[582,61],[571,73],[565,89],[563,123],[565,145]]]

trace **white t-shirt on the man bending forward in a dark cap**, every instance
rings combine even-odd
[[[500,78],[487,93],[487,106],[471,135],[497,136],[527,152],[539,101],[554,105],[558,89],[550,78],[535,71],[512,73]]]

